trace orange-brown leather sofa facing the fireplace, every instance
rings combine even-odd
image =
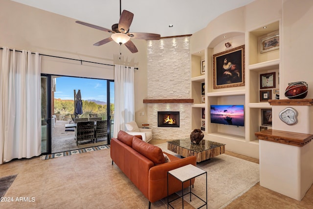
[[[165,162],[163,154],[170,162]],[[119,131],[117,138],[111,139],[111,158],[112,164],[114,162],[149,200],[149,209],[151,203],[167,197],[169,170],[187,164],[196,165],[195,156],[180,159],[124,131]],[[194,179],[191,184],[194,184]],[[184,183],[184,187],[187,186],[189,182]],[[181,183],[169,175],[169,194],[179,190]]]

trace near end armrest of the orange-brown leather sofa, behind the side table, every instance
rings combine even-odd
[[[158,164],[149,170],[149,201],[155,202],[167,196],[167,172],[184,165],[197,164],[195,156],[186,157],[169,163]],[[194,184],[194,179],[191,184]],[[189,182],[184,183],[184,187],[189,186]],[[169,194],[181,190],[181,183],[178,179],[169,175]]]

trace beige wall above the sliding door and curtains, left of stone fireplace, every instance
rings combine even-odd
[[[136,116],[147,97],[147,43],[133,40],[139,52],[132,54],[121,46],[122,57],[118,59],[119,46],[111,42],[104,46],[94,43],[109,37],[109,33],[75,23],[76,20],[44,10],[36,9],[10,0],[0,0],[0,46],[19,50],[26,49],[41,54],[87,60],[105,64],[122,64],[139,68],[135,71]],[[113,24],[113,23],[112,23]],[[44,57],[42,72],[113,79],[113,67],[78,61]],[[146,121],[146,119],[143,119]]]

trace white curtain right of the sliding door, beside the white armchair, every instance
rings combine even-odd
[[[114,69],[114,131],[117,137],[125,123],[134,120],[134,67],[115,65]]]

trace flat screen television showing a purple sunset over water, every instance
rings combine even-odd
[[[211,123],[245,126],[244,105],[211,105]]]

